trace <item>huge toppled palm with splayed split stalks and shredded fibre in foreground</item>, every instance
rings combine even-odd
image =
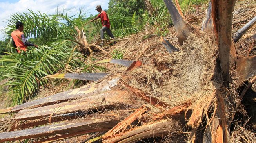
[[[204,20],[203,14],[194,16],[204,21],[199,31],[201,25],[189,25],[191,16],[175,10],[178,2],[164,2],[171,16],[177,16],[165,38],[159,41],[151,30],[102,46],[104,51],[94,55],[98,61],[88,65],[104,66],[108,73],[48,76],[94,82],[1,109],[1,114],[15,114],[2,120],[0,142],[49,143],[85,135],[84,142],[103,143],[254,143],[255,27],[246,27],[237,43],[232,33],[253,21],[256,6],[235,6],[231,23],[234,4],[212,0]],[[77,31],[79,43],[88,44]],[[232,54],[225,53],[227,45]],[[115,49],[123,60],[112,59]]]

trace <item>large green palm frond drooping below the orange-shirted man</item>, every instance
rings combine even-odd
[[[73,48],[67,43],[51,43],[51,46],[40,46],[33,48],[27,52],[10,53],[1,61],[9,61],[11,66],[5,67],[2,76],[8,79],[6,85],[9,85],[9,92],[13,95],[13,105],[22,104],[24,98],[33,97],[38,91],[38,84],[44,86],[46,80],[40,80],[48,74],[54,74],[64,68],[63,61],[68,61],[68,55],[71,54]],[[78,57],[81,54],[75,53]],[[68,64],[74,65],[78,61],[71,60]],[[82,61],[80,61],[81,65]]]

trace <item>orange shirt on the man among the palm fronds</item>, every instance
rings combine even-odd
[[[13,41],[15,45],[17,46],[18,53],[20,53],[20,50],[26,51],[27,46],[23,43],[21,40],[21,35],[24,34],[23,32],[20,32],[19,30],[15,30],[11,33],[11,37],[13,38]],[[20,48],[20,50],[19,50]]]

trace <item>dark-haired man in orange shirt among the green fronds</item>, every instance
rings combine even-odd
[[[23,23],[16,22],[16,30],[11,33],[11,38],[13,41],[13,46],[17,48],[18,53],[20,53],[20,50],[26,51],[27,46],[34,46],[38,47],[37,45],[34,45],[32,43],[29,43],[27,39],[24,36],[24,33],[22,32],[24,29]]]

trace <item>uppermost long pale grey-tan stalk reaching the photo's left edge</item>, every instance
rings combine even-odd
[[[103,82],[89,84],[86,86],[82,86],[80,88],[75,88],[61,93],[57,93],[55,95],[37,99],[21,105],[16,105],[14,107],[10,107],[7,109],[2,109],[0,110],[0,114],[18,112],[19,110],[26,109],[29,107],[40,107],[57,102],[87,97],[104,91],[109,91],[111,90],[111,88],[116,86],[118,80],[119,78],[113,78],[111,80],[104,80]]]

